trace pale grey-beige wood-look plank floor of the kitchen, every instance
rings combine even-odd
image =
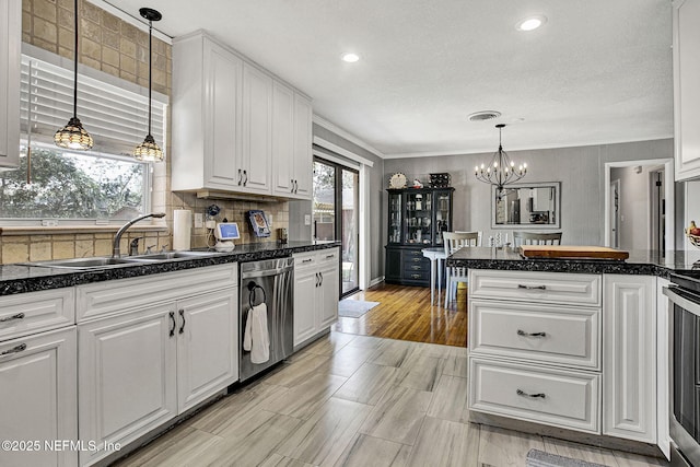
[[[667,463],[470,423],[467,349],[331,332],[121,459],[131,466],[524,466],[530,448]]]

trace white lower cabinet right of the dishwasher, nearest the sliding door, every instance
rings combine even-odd
[[[338,248],[294,256],[294,346],[338,320],[340,252]]]

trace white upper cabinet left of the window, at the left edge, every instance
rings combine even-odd
[[[22,1],[0,2],[0,171],[20,163]]]

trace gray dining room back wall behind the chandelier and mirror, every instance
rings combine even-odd
[[[504,149],[516,164],[527,163],[527,175],[523,183],[561,182],[562,243],[569,245],[603,245],[605,163],[674,155],[672,139],[528,151]],[[448,172],[455,187],[455,230],[482,231],[483,238],[488,238],[495,233],[491,229],[491,189],[489,185],[476,180],[474,167],[488,163],[491,155],[387,159],[384,161],[384,178],[401,172],[409,179],[418,176],[425,180],[429,173]],[[386,225],[385,210],[380,223]],[[386,243],[386,232],[382,232],[382,235]]]

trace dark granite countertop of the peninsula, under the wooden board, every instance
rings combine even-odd
[[[645,275],[668,278],[670,272],[693,268],[700,261],[700,250],[631,250],[623,261],[609,259],[532,259],[516,248],[460,248],[446,260],[447,266],[470,269],[504,269],[512,271],[548,271],[580,273]],[[696,269],[700,269],[700,264]]]

